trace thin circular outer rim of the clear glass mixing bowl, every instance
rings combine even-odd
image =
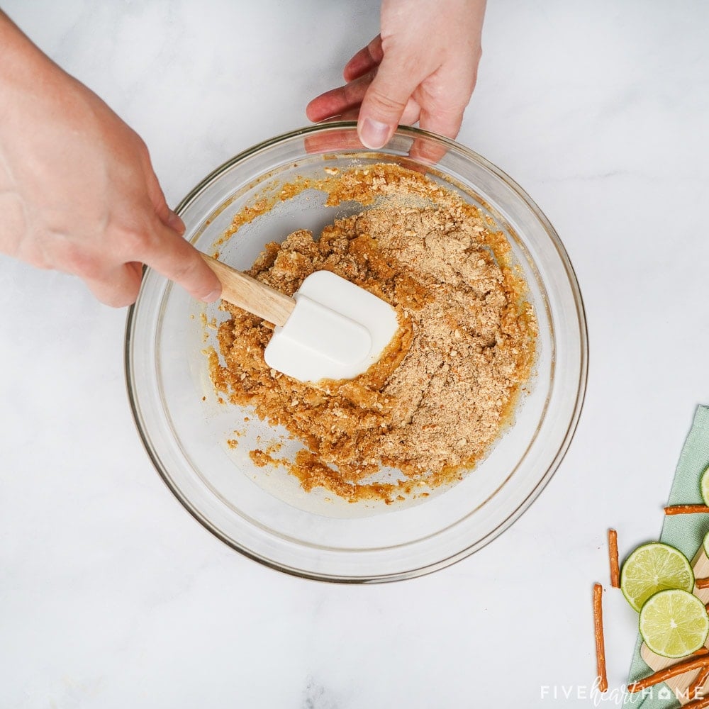
[[[182,200],[179,201],[177,206],[174,208],[174,211],[177,214],[182,213],[195,199],[199,197],[199,195],[205,189],[208,188],[208,186],[210,186],[216,179],[218,179],[221,174],[227,172],[235,164],[246,160],[248,157],[251,157],[252,155],[255,155],[258,152],[267,150],[273,145],[278,145],[280,143],[286,142],[287,140],[292,140],[293,138],[298,138],[299,136],[303,135],[309,135],[311,133],[321,133],[323,131],[328,130],[352,130],[352,128],[356,127],[356,121],[331,121],[328,123],[317,123],[315,125],[308,125],[304,126],[303,128],[291,130],[288,133],[282,133],[281,135],[274,136],[274,138],[269,138],[268,140],[263,140],[261,143],[252,145],[252,147],[249,147],[246,150],[242,150],[237,155],[231,157],[229,160],[226,160],[218,167],[213,169],[209,174],[206,175],[206,177],[203,177],[203,179],[201,179],[200,182],[196,184],[196,186],[194,186],[186,194],[186,196],[184,196]],[[402,581],[405,579],[413,579],[417,578],[418,576],[425,576],[431,574],[434,571],[443,569],[446,566],[450,566],[454,563],[457,563],[462,559],[469,557],[471,554],[474,554],[474,552],[479,551],[479,549],[482,549],[483,547],[488,545],[490,542],[496,539],[496,537],[501,535],[511,525],[513,525],[531,506],[532,502],[534,502],[537,497],[540,496],[540,493],[542,493],[542,491],[545,489],[549,481],[552,479],[552,476],[554,476],[554,473],[559,468],[559,465],[562,463],[564,457],[566,456],[566,452],[569,450],[571,441],[574,438],[574,434],[576,432],[576,429],[578,428],[579,420],[581,418],[581,412],[584,408],[584,401],[586,398],[586,387],[588,384],[589,357],[588,323],[586,320],[586,308],[584,306],[584,298],[581,294],[579,282],[576,278],[576,272],[574,270],[573,265],[571,264],[571,259],[569,258],[569,255],[566,252],[566,248],[564,247],[562,240],[559,238],[557,231],[552,226],[552,223],[550,223],[549,219],[547,218],[547,216],[545,216],[545,213],[542,212],[537,203],[532,200],[529,194],[527,194],[527,192],[517,182],[515,182],[512,177],[510,177],[506,172],[497,167],[495,164],[487,160],[485,157],[479,155],[479,153],[475,152],[474,150],[471,150],[469,147],[458,143],[456,140],[446,138],[445,136],[438,135],[437,133],[432,133],[428,130],[423,130],[422,128],[416,128],[414,126],[399,125],[396,129],[396,133],[398,135],[406,135],[413,139],[421,137],[432,138],[433,140],[436,140],[437,142],[442,143],[447,147],[453,148],[459,153],[463,153],[474,162],[479,162],[479,164],[481,164],[484,168],[488,169],[489,172],[493,173],[496,177],[501,179],[506,184],[506,186],[510,190],[512,190],[516,194],[516,196],[518,196],[518,199],[523,201],[523,203],[525,203],[525,205],[530,208],[530,211],[532,211],[535,218],[537,218],[544,227],[545,232],[549,236],[549,239],[552,241],[554,249],[557,251],[560,262],[564,267],[564,271],[566,272],[566,279],[568,280],[569,287],[571,289],[571,294],[574,298],[574,306],[576,308],[576,317],[579,326],[579,382],[578,387],[576,389],[574,410],[569,418],[569,424],[566,428],[566,432],[564,433],[562,444],[559,446],[559,449],[554,455],[554,458],[551,460],[551,462],[549,462],[547,470],[544,472],[544,474],[542,474],[542,476],[540,476],[540,479],[537,484],[530,490],[530,492],[527,494],[527,497],[515,508],[515,510],[513,510],[513,512],[510,513],[510,515],[508,515],[497,527],[490,530],[484,537],[479,540],[476,540],[471,545],[465,547],[464,549],[460,549],[454,554],[451,554],[449,557],[440,559],[437,562],[426,564],[425,566],[422,566],[417,569],[410,569],[407,571],[395,571],[391,574],[379,574],[377,576],[343,576],[341,574],[326,574],[322,572],[313,572],[306,571],[303,569],[297,569],[293,566],[288,566],[286,564],[275,562],[274,560],[269,559],[267,557],[262,557],[256,552],[252,552],[252,550],[248,549],[247,547],[238,544],[238,542],[235,542],[235,540],[230,539],[230,537],[225,535],[224,532],[221,532],[218,527],[216,527],[216,525],[211,523],[210,520],[208,520],[204,515],[199,512],[198,509],[195,508],[195,506],[189,501],[189,499],[186,498],[184,493],[182,493],[182,491],[177,487],[177,485],[174,484],[171,477],[164,469],[160,457],[158,457],[157,453],[153,449],[152,444],[150,442],[150,437],[147,435],[145,426],[143,425],[143,417],[140,414],[140,406],[138,404],[138,398],[136,396],[133,387],[132,377],[130,374],[132,362],[130,352],[131,343],[133,341],[133,325],[135,322],[135,312],[138,306],[138,301],[140,300],[140,298],[138,298],[135,303],[133,303],[128,308],[128,314],[126,316],[125,321],[125,337],[123,347],[124,376],[126,391],[128,393],[130,411],[133,415],[133,423],[135,424],[136,430],[138,430],[140,440],[143,442],[143,447],[145,447],[145,451],[147,452],[147,455],[150,458],[153,467],[155,467],[157,473],[160,475],[160,478],[162,479],[164,484],[172,492],[175,498],[177,498],[177,500],[182,504],[182,506],[187,510],[187,512],[189,512],[192,517],[194,517],[203,527],[205,527],[206,530],[208,530],[209,532],[211,532],[211,534],[213,534],[219,540],[224,542],[225,545],[228,545],[230,549],[234,549],[235,551],[240,552],[240,554],[243,554],[245,557],[253,559],[255,562],[259,562],[259,564],[268,566],[271,569],[276,569],[277,571],[281,571],[292,576],[298,576],[303,579],[335,582],[339,584],[372,584],[386,583],[391,581]],[[355,148],[351,152],[363,152],[366,150],[367,148],[362,147],[361,150],[357,150]],[[338,152],[350,151],[345,148]],[[144,266],[144,273],[145,269],[146,267]]]

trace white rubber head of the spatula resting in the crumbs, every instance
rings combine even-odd
[[[330,271],[308,276],[294,298],[296,307],[274,329],[264,359],[300,381],[363,374],[398,329],[389,303]]]

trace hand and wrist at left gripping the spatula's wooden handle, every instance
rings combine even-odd
[[[147,148],[96,94],[0,13],[0,251],[76,274],[100,301],[135,301],[142,266],[216,300]]]

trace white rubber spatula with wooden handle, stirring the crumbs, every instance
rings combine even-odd
[[[330,271],[308,276],[291,298],[203,257],[222,284],[222,300],[276,325],[266,364],[300,381],[363,374],[398,329],[389,303]]]

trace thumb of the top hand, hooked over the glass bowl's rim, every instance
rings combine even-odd
[[[376,150],[389,142],[419,83],[405,65],[384,55],[359,108],[357,132],[366,147]]]

